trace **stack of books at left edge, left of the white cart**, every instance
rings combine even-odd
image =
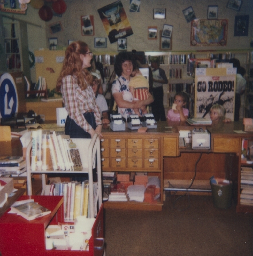
[[[0,157],[0,175],[19,176],[26,172],[26,160],[23,156]]]

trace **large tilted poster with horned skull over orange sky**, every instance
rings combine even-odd
[[[97,11],[111,44],[117,42],[119,38],[133,35],[133,30],[121,1],[108,4]]]

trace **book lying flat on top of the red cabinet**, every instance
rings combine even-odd
[[[46,207],[35,203],[32,200],[28,200],[26,202],[17,201],[17,204],[13,204],[11,206],[12,212],[17,213],[27,220],[34,220],[36,218],[48,215],[51,213],[49,209]]]

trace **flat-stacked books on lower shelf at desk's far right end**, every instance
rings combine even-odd
[[[240,204],[253,205],[253,169],[241,167],[241,194]]]

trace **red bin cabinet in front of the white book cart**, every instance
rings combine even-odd
[[[49,224],[63,222],[63,196],[21,196],[19,200],[34,198],[35,202],[50,209],[49,215],[28,221],[9,210],[0,218],[0,255],[103,255],[104,253],[104,206],[101,205],[92,228],[89,251],[46,250],[45,228]]]

